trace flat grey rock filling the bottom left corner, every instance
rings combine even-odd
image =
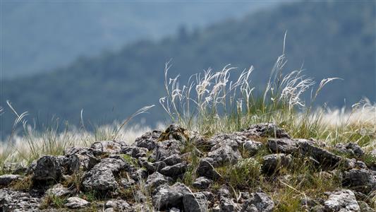
[[[40,211],[41,199],[30,193],[0,189],[0,211]]]

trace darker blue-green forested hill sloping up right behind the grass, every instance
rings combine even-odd
[[[212,67],[255,66],[253,83],[262,86],[282,52],[284,33],[289,66],[305,67],[317,81],[339,77],[322,91],[320,102],[342,106],[363,96],[375,101],[375,3],[304,2],[260,11],[242,20],[158,42],[140,41],[102,57],[80,59],[64,69],[13,81],[2,81],[2,105],[11,100],[46,120],[56,114],[78,123],[80,110],[91,122],[123,119],[138,108],[156,104],[164,95],[164,63],[173,59],[171,75],[186,79]],[[160,108],[146,117],[160,119]],[[32,116],[30,116],[32,117]],[[13,124],[7,110],[1,130]]]

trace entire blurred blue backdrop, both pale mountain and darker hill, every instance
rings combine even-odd
[[[107,124],[146,105],[157,107],[137,121],[163,122],[170,59],[182,83],[253,65],[253,86],[264,88],[286,31],[285,73],[344,79],[317,105],[375,102],[375,11],[375,1],[1,1],[0,140],[16,119],[6,100],[37,128],[52,117],[78,125],[81,110]]]

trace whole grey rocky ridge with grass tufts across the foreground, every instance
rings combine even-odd
[[[292,139],[274,124],[211,137],[171,124],[131,145],[98,141],[29,167],[8,164],[0,211],[279,211],[265,184],[308,174],[339,184],[301,195],[302,211],[374,211],[376,160],[365,155],[375,156],[355,143]]]

